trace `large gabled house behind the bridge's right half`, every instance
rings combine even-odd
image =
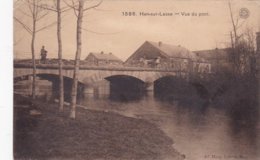
[[[194,64],[199,64],[200,67],[196,72],[210,72],[211,68],[209,63],[202,61],[194,52],[185,47],[151,41],[144,42],[126,60],[125,64],[169,68],[178,71],[194,71]]]

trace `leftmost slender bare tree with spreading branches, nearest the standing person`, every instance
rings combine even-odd
[[[17,3],[18,1],[16,1]],[[31,35],[31,53],[32,53],[32,65],[33,65],[33,83],[32,83],[32,98],[35,99],[36,91],[35,91],[35,83],[36,83],[36,64],[35,64],[35,40],[36,34],[53,24],[38,27],[37,23],[42,20],[47,14],[48,11],[43,10],[41,6],[42,0],[20,0],[19,2],[24,2],[24,4],[28,7],[28,12],[22,11],[20,7],[15,8],[17,11],[21,12],[23,15],[31,18],[32,23],[31,25],[26,24],[16,16],[14,16],[14,20],[19,23],[30,35]]]

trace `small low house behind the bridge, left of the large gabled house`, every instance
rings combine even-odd
[[[117,58],[112,53],[105,54],[104,52],[92,53],[85,58],[85,62],[93,65],[118,65],[123,64],[123,61]]]

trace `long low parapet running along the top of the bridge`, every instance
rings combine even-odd
[[[58,59],[47,59],[46,63],[41,63],[40,60],[36,59],[36,67],[40,69],[56,69],[58,68]],[[63,59],[63,68],[64,69],[72,69],[74,67],[74,60],[66,60]],[[185,63],[186,64],[186,63]],[[188,63],[187,63],[188,64]],[[187,74],[194,72],[194,67],[190,65],[180,65],[180,64],[159,64],[159,65],[129,65],[127,63],[120,65],[112,65],[112,64],[103,64],[97,65],[93,63],[89,63],[87,61],[80,61],[80,69],[81,70],[117,70],[117,71],[160,71],[160,72],[176,72],[178,74]],[[192,62],[193,64],[193,62]],[[194,63],[195,64],[195,63]],[[197,63],[196,63],[197,64]],[[30,59],[24,60],[14,60],[15,68],[32,68],[32,61]],[[196,68],[196,67],[195,67]],[[203,71],[195,71],[199,74],[205,74]],[[203,73],[200,73],[203,72]],[[206,71],[210,72],[210,71]]]

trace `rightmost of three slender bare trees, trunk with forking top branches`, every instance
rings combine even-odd
[[[77,4],[74,2],[74,0],[71,0],[72,4],[68,4],[66,3],[66,1],[64,1],[69,7],[71,7],[74,10],[74,13],[77,17],[77,32],[76,32],[77,49],[75,54],[75,64],[74,64],[73,82],[72,82],[72,90],[71,90],[71,112],[70,112],[70,118],[73,119],[76,118],[78,74],[79,74],[79,65],[80,65],[80,56],[81,56],[81,47],[82,47],[82,41],[81,41],[82,20],[85,11],[98,7],[102,3],[102,1],[100,1],[95,5],[84,8],[85,1],[86,0],[78,0]]]

